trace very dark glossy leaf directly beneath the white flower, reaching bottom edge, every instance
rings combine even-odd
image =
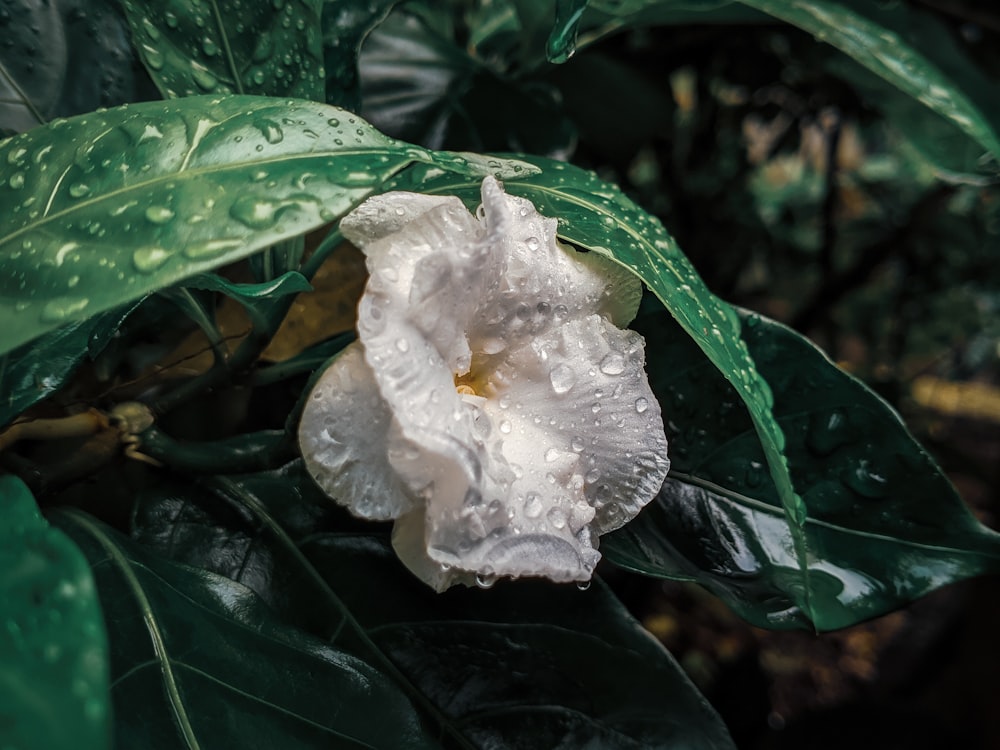
[[[345,520],[299,463],[164,488],[135,524],[145,544],[245,583],[286,621],[381,665],[445,746],[732,747],[603,583],[435,594],[384,526]]]

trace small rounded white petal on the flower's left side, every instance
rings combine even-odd
[[[392,421],[359,342],[326,369],[302,413],[299,446],[309,474],[362,518],[388,520],[414,507],[389,466]]]

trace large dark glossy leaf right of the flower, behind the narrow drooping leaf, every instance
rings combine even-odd
[[[888,404],[791,329],[753,313],[742,320],[809,511],[811,612],[750,417],[662,314],[636,328],[668,425],[671,471],[638,518],[602,539],[609,560],[697,581],[755,625],[819,630],[1000,572],[1000,535],[972,517]]]

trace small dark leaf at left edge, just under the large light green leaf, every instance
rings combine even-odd
[[[70,323],[0,355],[0,427],[58,391],[85,359],[100,354],[136,304]]]

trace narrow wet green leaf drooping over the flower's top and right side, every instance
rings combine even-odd
[[[563,239],[606,255],[633,271],[677,319],[710,366],[733,384],[749,409],[767,470],[790,521],[794,555],[805,575],[808,548],[801,527],[806,506],[793,488],[782,454],[785,439],[771,413],[771,389],[740,338],[739,318],[733,308],[708,290],[660,221],[617,187],[570,164],[537,157],[529,163],[542,171],[509,183],[507,190],[531,200],[544,216],[557,218],[558,234]],[[434,175],[422,168],[401,174],[391,185],[416,192],[459,195],[470,207],[479,202],[478,185],[452,175]],[[803,606],[808,611],[809,587],[801,583]]]

